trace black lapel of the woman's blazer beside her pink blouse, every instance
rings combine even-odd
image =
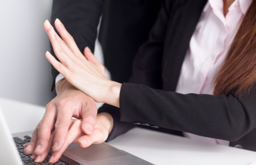
[[[162,61],[163,90],[176,90],[190,38],[206,3],[207,0],[180,0],[170,13]]]

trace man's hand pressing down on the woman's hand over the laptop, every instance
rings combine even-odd
[[[46,106],[43,119],[32,134],[31,141],[25,152],[39,156],[48,147],[51,131],[55,135],[52,139],[52,150],[58,152],[65,143],[71,117],[83,119],[81,130],[90,135],[96,124],[97,107],[95,101],[73,87],[65,79],[56,84],[57,96]],[[78,141],[79,142],[79,141]]]

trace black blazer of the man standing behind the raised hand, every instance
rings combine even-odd
[[[161,6],[160,0],[53,0],[51,24],[59,18],[79,49],[94,50],[100,16],[99,42],[104,64],[112,80],[128,82],[138,47],[148,33]],[[51,53],[55,56],[51,47]],[[55,56],[56,57],[56,56]],[[59,72],[51,66],[52,90]]]

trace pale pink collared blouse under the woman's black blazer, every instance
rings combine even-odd
[[[235,0],[223,13],[223,0],[208,0],[187,49],[177,84],[178,93],[213,94],[214,78],[252,0]],[[185,137],[214,144],[229,141],[184,132]]]

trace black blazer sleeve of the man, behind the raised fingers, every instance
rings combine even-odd
[[[54,27],[55,19],[59,18],[73,36],[79,50],[83,53],[84,48],[89,46],[93,52],[103,4],[104,0],[53,0],[50,23]],[[51,54],[55,56],[52,46]],[[51,66],[51,73],[53,91],[59,72]]]

